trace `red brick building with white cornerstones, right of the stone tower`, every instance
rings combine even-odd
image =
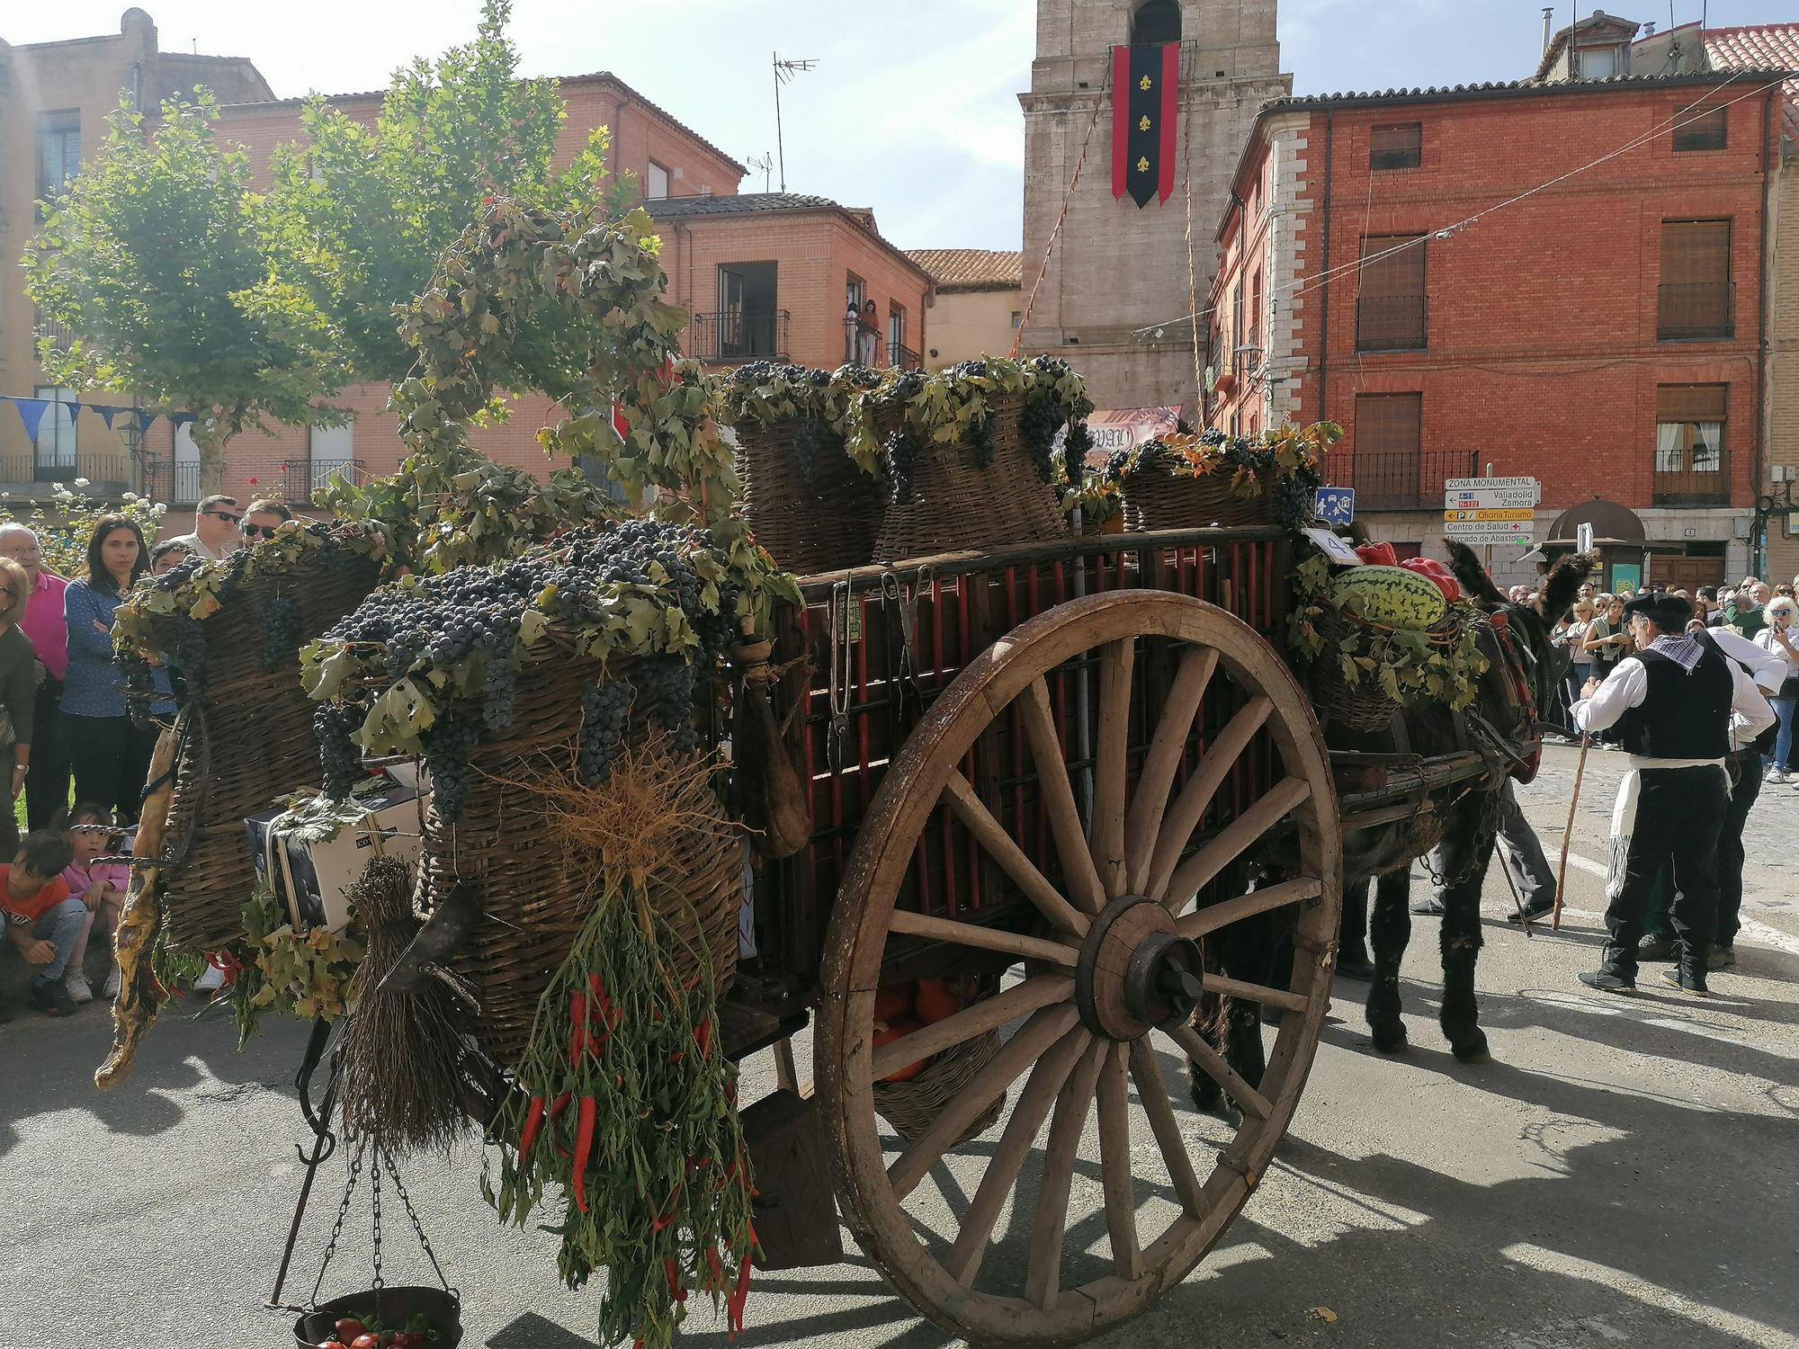
[[[1443,480],[1491,466],[1542,480],[1538,536],[1607,496],[1642,518],[1653,579],[1741,574],[1765,439],[1767,83],[1268,104],[1218,228],[1209,419],[1342,423],[1328,475],[1396,543],[1434,540]],[[1495,570],[1527,572],[1520,552]]]

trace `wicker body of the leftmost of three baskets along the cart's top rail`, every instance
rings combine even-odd
[[[779,421],[738,430],[738,477],[756,541],[799,576],[862,567],[873,559],[882,527],[882,484],[844,453],[837,433],[828,433],[813,455],[811,477],[802,473],[801,426]]]

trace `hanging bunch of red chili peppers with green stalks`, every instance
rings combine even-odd
[[[538,1002],[518,1086],[495,1122],[500,1185],[520,1227],[547,1185],[567,1194],[558,1266],[570,1288],[606,1270],[599,1338],[666,1349],[687,1295],[743,1329],[756,1230],[736,1065],[714,1034],[716,991],[678,982],[684,939],[642,894],[608,894]],[[516,1149],[506,1140],[516,1139]]]

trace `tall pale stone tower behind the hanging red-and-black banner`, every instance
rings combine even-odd
[[[1036,0],[1036,61],[1024,104],[1024,291],[1067,200],[1056,252],[1024,326],[1024,349],[1063,356],[1101,408],[1198,401],[1193,329],[1205,306],[1231,180],[1256,113],[1292,94],[1274,36],[1275,0]],[[1139,209],[1112,196],[1112,47],[1180,43],[1173,192]],[[1124,92],[1119,92],[1123,97]],[[1097,121],[1096,121],[1097,110]],[[1069,180],[1081,160],[1072,196]],[[1193,293],[1187,189],[1193,194]],[[1162,324],[1162,336],[1135,329]],[[1204,326],[1202,326],[1204,342]]]

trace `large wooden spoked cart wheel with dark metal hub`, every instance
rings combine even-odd
[[[1171,664],[1169,678],[1133,676],[1151,649]],[[1083,658],[1097,660],[1090,838],[1049,692],[1049,676]],[[1220,680],[1238,685],[1241,705],[1177,790],[1195,716]],[[1153,687],[1159,707],[1144,705],[1142,689]],[[1040,775],[1061,885],[1011,842],[961,772],[982,732],[1013,709]],[[1132,725],[1148,746],[1135,782]],[[1196,838],[1214,793],[1263,728],[1261,745],[1274,746],[1265,790],[1241,800],[1223,829]],[[939,802],[1031,901],[1031,932],[896,910]],[[1329,1005],[1340,903],[1335,809],[1317,723],[1286,666],[1252,628],[1187,595],[1119,590],[1060,604],[995,642],[943,692],[894,755],[858,835],[831,917],[817,1040],[844,1214],[925,1317],[975,1344],[1083,1340],[1148,1308],[1218,1241],[1286,1131]],[[1297,826],[1286,847],[1295,871],[1195,907],[1207,881],[1286,818]],[[1290,989],[1202,973],[1202,939],[1272,910],[1297,919]],[[993,996],[874,1049],[891,935],[1015,955],[1024,977],[1015,969]],[[1193,1031],[1200,978],[1281,1014],[1259,1086]],[[1020,1018],[921,1137],[883,1146],[871,1083]],[[1238,1103],[1234,1131],[1186,1104],[1187,1059]],[[1002,1095],[1004,1124],[961,1144]],[[1083,1149],[1090,1115],[1097,1128]],[[959,1175],[939,1167],[950,1151],[962,1158]],[[1009,1223],[997,1237],[1007,1202]]]

